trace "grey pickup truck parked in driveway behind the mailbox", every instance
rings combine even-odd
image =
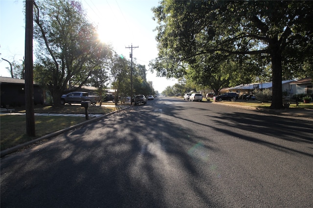
[[[81,103],[82,101],[90,101],[92,105],[95,105],[98,100],[98,96],[96,95],[88,95],[88,93],[85,92],[71,92],[67,95],[61,96],[61,105],[64,105],[66,103]]]

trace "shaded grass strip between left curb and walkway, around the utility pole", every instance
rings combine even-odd
[[[26,134],[25,115],[0,115],[0,150],[31,141],[85,121],[85,117],[35,116],[36,136]]]

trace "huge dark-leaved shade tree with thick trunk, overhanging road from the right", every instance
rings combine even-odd
[[[302,66],[312,59],[312,11],[312,1],[162,0],[153,8],[159,54],[151,66],[161,76],[179,77],[198,56],[258,56],[271,64],[271,108],[283,108],[282,74],[290,69],[284,60],[293,57]]]

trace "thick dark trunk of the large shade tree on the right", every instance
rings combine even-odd
[[[271,109],[283,109],[282,92],[282,53],[279,47],[278,38],[270,41],[270,58],[272,62],[272,103]]]

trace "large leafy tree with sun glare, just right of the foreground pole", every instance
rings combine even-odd
[[[34,12],[37,41],[35,80],[53,96],[53,105],[67,86],[81,88],[111,53],[75,0],[38,1]]]

